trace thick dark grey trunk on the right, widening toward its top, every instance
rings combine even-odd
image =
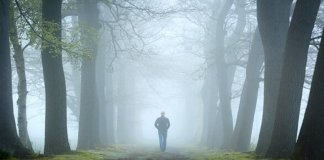
[[[269,137],[273,130],[291,3],[292,0],[257,1],[265,65],[263,116],[256,148],[256,153],[261,155],[265,154],[270,145]]]

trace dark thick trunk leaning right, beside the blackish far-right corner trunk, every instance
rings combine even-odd
[[[288,157],[293,151],[308,47],[319,5],[320,0],[298,0],[296,3],[286,41],[277,111],[267,157]]]

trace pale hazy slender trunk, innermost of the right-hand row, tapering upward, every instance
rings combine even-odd
[[[217,15],[217,6],[219,1],[213,2],[213,14],[207,24],[205,33],[206,46],[204,47],[205,61],[207,65],[203,86],[201,89],[201,97],[203,102],[203,132],[201,134],[201,143],[210,148],[219,148],[222,144],[221,133],[222,128],[219,109],[218,109],[218,86],[216,78],[216,65],[214,56],[214,27]]]

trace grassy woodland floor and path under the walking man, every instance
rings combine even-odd
[[[14,158],[12,158],[14,159]],[[104,149],[76,151],[70,154],[41,156],[36,160],[266,160],[258,158],[254,153],[220,152],[204,147],[187,146],[183,148],[169,147],[160,152],[157,147],[114,145]]]

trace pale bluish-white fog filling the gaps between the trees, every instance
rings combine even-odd
[[[206,135],[204,123],[207,123],[204,117],[208,113],[204,107],[207,104],[204,103],[205,94],[209,95],[206,101],[214,103],[215,107],[209,110],[213,114],[207,121],[212,121],[221,113],[220,95],[218,91],[217,93],[213,91],[215,87],[213,84],[219,81],[215,79],[219,72],[210,71],[215,67],[217,60],[211,60],[215,55],[211,56],[210,52],[218,51],[214,46],[218,42],[216,39],[219,35],[215,35],[216,31],[212,28],[217,26],[215,15],[221,12],[224,3],[223,0],[143,0],[134,2],[134,5],[138,6],[137,9],[122,2],[120,4],[126,7],[98,3],[101,22],[96,63],[102,62],[103,65],[97,64],[96,76],[103,76],[104,83],[99,83],[99,78],[96,80],[98,90],[96,95],[104,97],[102,101],[104,106],[109,103],[112,107],[110,110],[112,114],[109,115],[113,117],[109,120],[113,120],[113,129],[108,132],[114,133],[114,141],[110,144],[139,144],[158,148],[158,131],[154,123],[164,111],[165,116],[170,120],[168,146],[181,148],[205,145],[202,142]],[[243,7],[245,24],[243,28],[237,28],[241,16],[237,3],[239,2],[235,2],[229,9],[225,20],[223,46],[226,66],[229,66],[226,68],[233,69],[233,72],[228,71],[228,76],[233,74],[233,80],[226,79],[231,84],[230,114],[234,127],[246,79],[253,35],[258,25],[256,2],[248,0]],[[120,8],[117,12],[118,7]],[[131,8],[128,8],[130,11],[127,7]],[[72,44],[73,37],[80,37],[78,33],[73,33],[80,27],[77,20],[75,16],[66,16],[62,19],[64,42]],[[313,35],[318,34],[315,33],[318,28],[320,27],[315,26]],[[238,31],[240,33],[237,33]],[[26,103],[28,132],[34,151],[43,153],[46,99],[40,49],[37,46],[30,46],[25,50],[24,55],[28,90]],[[73,50],[80,52],[80,55],[71,55],[63,48],[62,56],[67,92],[68,140],[71,148],[75,150],[80,118],[81,59],[87,56],[81,54],[82,50],[75,48]],[[315,48],[310,47],[309,52],[313,50]],[[309,54],[306,75],[312,74],[314,56]],[[18,106],[15,101],[18,98],[18,76],[14,63],[12,58],[14,115],[17,122]],[[264,65],[261,68],[259,77],[262,80],[258,87],[250,141],[252,148],[257,145],[263,115]],[[214,79],[207,83],[206,79],[209,76]],[[309,88],[309,82],[305,83],[300,105],[299,128],[303,121]],[[100,89],[103,91],[99,92]],[[98,114],[108,113],[105,111],[107,110],[101,110]],[[208,133],[213,132],[216,135],[217,130],[222,129],[223,127],[216,127],[216,131],[210,130]]]

